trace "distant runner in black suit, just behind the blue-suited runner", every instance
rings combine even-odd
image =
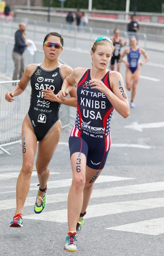
[[[119,29],[114,29],[113,31],[113,38],[111,38],[112,42],[113,42],[113,46],[114,46],[114,52],[113,52],[113,56],[111,58],[111,62],[110,62],[110,69],[114,70],[114,64],[115,64],[115,60],[117,61],[117,72],[120,73],[120,66],[121,66],[121,60],[120,60],[120,50],[121,47],[124,47],[127,42],[124,41],[123,42],[123,38],[121,38],[119,36]]]

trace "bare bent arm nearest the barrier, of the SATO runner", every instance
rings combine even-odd
[[[8,92],[5,94],[6,101],[12,102],[14,101],[13,97],[18,96],[24,92],[36,67],[37,64],[30,64],[25,68],[25,72],[23,73],[23,76],[20,79],[19,83],[14,87],[12,92]]]

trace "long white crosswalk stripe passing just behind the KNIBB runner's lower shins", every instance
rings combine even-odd
[[[164,207],[164,198],[149,198],[143,200],[122,201],[105,204],[94,204],[88,206],[85,218],[95,218],[99,216],[118,214],[122,212],[132,212],[144,209]],[[67,222],[67,209],[42,212],[41,215],[27,215],[23,218],[40,221],[54,221],[59,223]]]

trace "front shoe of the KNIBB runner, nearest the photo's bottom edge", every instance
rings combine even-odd
[[[76,253],[76,232],[69,232],[66,236],[65,245],[63,248],[66,252]]]

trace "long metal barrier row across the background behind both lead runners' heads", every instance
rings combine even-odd
[[[100,35],[107,35],[113,37],[113,29],[92,28],[92,27],[77,27],[72,25],[71,31],[68,30],[68,25],[63,23],[48,23],[47,21],[29,20],[28,18],[15,17],[12,22],[0,22],[0,34],[14,36],[15,31],[18,29],[20,22],[26,23],[26,35],[27,38],[33,41],[42,41],[44,36],[51,32],[56,31],[63,35],[65,39],[65,46],[81,48],[90,50],[90,45],[93,40]],[[129,41],[129,35],[127,31],[120,31],[122,36],[127,42]],[[145,49],[155,48],[154,43],[158,42],[156,49],[163,49],[164,36],[151,35],[146,33],[137,32],[140,47]]]

